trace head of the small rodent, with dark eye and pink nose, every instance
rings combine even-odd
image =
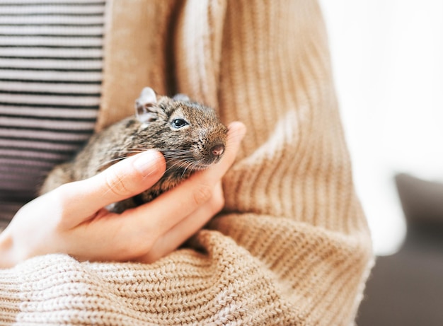
[[[200,170],[222,158],[228,129],[212,108],[181,94],[157,97],[151,88],[144,88],[135,107],[137,145],[154,146],[170,168]]]

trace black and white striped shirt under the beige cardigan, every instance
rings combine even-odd
[[[91,136],[105,1],[0,0],[0,223]]]

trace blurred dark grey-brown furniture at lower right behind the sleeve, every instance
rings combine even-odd
[[[443,184],[406,174],[395,181],[408,233],[401,250],[377,258],[357,325],[441,326]]]

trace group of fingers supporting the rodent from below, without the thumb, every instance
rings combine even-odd
[[[243,124],[231,124],[226,152],[219,163],[195,173],[154,201],[107,219],[107,226],[101,229],[109,228],[106,234],[114,230],[114,259],[154,262],[178,248],[217,214],[224,206],[222,177],[234,163],[245,132]],[[104,246],[100,251],[107,250]]]

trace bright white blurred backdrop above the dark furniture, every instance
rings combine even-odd
[[[393,175],[443,181],[443,1],[320,3],[357,192],[389,255],[405,236]]]

